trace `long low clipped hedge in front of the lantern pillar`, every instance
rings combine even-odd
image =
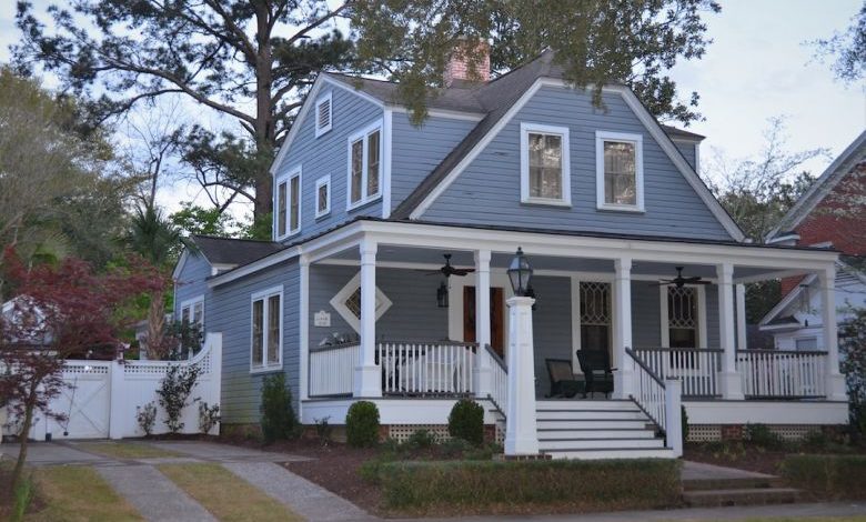
[[[387,462],[376,470],[385,508],[413,514],[658,509],[681,502],[679,462]]]

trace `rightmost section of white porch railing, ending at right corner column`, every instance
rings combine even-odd
[[[827,352],[743,350],[736,359],[747,398],[817,399],[827,394]]]

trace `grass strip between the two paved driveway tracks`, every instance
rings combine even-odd
[[[219,464],[162,464],[158,468],[222,522],[303,520]]]

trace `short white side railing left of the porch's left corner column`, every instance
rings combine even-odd
[[[310,350],[310,396],[351,395],[361,347],[338,344]]]

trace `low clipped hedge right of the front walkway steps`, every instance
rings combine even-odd
[[[866,499],[866,455],[788,455],[782,476],[825,499]]]

